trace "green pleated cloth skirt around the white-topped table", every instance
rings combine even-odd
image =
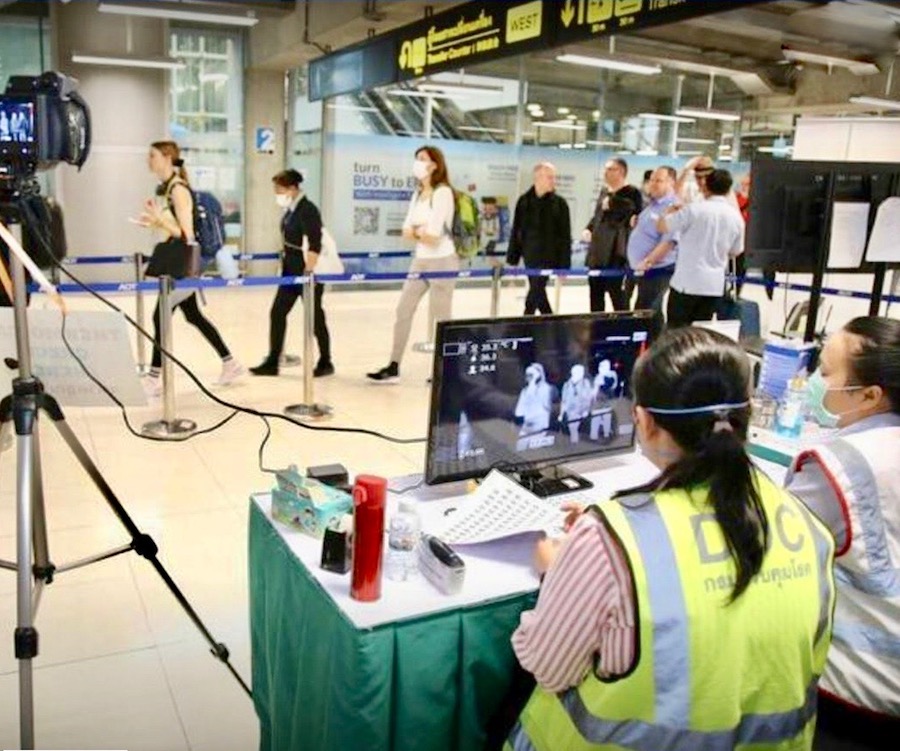
[[[261,751],[483,747],[534,594],[358,630],[252,501],[249,545]]]

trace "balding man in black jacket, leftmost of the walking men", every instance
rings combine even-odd
[[[534,168],[534,185],[519,197],[506,251],[510,266],[526,269],[568,269],[572,265],[569,206],[556,195],[556,167],[541,162]],[[547,299],[547,277],[528,277],[525,315],[553,312]]]

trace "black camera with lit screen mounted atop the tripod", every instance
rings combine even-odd
[[[0,181],[22,180],[59,162],[85,163],[91,117],[77,84],[55,71],[10,77],[0,96]]]

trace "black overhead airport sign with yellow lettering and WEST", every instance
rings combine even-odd
[[[309,64],[309,98],[676,23],[763,0],[475,0],[347,47]]]

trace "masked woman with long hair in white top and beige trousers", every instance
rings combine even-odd
[[[441,150],[434,146],[422,146],[416,151],[413,175],[419,181],[419,188],[413,194],[403,222],[403,237],[416,243],[409,270],[458,271],[459,258],[451,236],[455,201]],[[409,341],[409,331],[419,301],[430,291],[432,318],[435,321],[448,319],[455,285],[455,278],[406,280],[397,304],[390,364],[368,373],[371,380],[391,383],[400,377],[400,361]]]

